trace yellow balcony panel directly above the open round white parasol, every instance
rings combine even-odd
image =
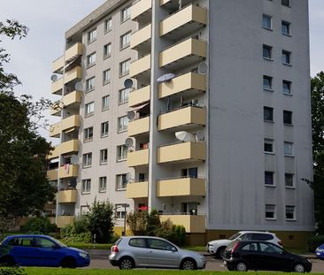
[[[171,129],[188,130],[195,126],[205,126],[206,110],[189,106],[158,116],[158,131]]]

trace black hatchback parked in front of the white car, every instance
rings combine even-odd
[[[223,259],[228,271],[312,271],[307,258],[267,241],[233,241],[225,249]]]

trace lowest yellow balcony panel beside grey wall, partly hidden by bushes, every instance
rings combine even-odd
[[[170,220],[173,225],[183,225],[186,233],[205,233],[205,215],[161,215],[161,221]]]

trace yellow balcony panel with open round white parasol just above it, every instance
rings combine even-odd
[[[203,161],[205,159],[205,142],[181,142],[158,148],[158,164]]]

